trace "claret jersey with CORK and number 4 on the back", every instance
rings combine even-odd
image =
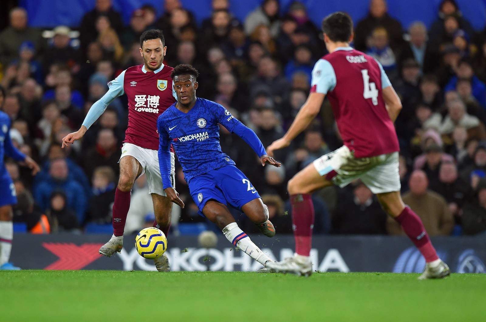
[[[338,48],[315,63],[311,92],[327,94],[344,145],[356,158],[399,151],[382,96],[388,86],[381,64],[351,47]]]

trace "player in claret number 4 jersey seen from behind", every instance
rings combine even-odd
[[[401,102],[395,90],[380,63],[349,47],[353,24],[347,14],[336,12],[324,18],[322,30],[329,54],[315,64],[311,93],[293,124],[267,151],[272,155],[288,146],[319,113],[326,95],[344,145],[315,160],[289,181],[295,254],[267,267],[277,272],[310,275],[314,220],[310,194],[331,184],[344,187],[360,178],[425,257],[427,264],[419,279],[449,275],[450,270],[437,256],[422,221],[400,197],[399,143],[393,122]]]

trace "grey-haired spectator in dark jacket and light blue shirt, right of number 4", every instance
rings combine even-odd
[[[408,28],[410,40],[404,45],[399,55],[399,68],[408,58],[417,61],[420,73],[435,72],[437,67],[436,50],[433,49],[427,38],[427,27],[422,21],[413,22]]]

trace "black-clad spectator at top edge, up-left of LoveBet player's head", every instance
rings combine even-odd
[[[121,20],[121,15],[115,11],[111,5],[111,0],[96,0],[95,8],[88,11],[83,16],[81,24],[79,25],[82,48],[86,48],[90,42],[98,38],[99,30],[97,28],[97,21],[101,16],[104,16],[109,20],[109,25],[117,33],[120,33],[123,30],[123,21]]]

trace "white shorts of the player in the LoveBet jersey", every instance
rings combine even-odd
[[[140,162],[142,173],[147,175],[149,185],[149,194],[157,194],[167,197],[162,187],[162,177],[160,177],[160,168],[158,165],[158,153],[156,150],[144,149],[132,143],[123,143],[121,146],[121,157],[132,156]],[[171,181],[175,189],[175,158],[174,152],[171,152]]]

